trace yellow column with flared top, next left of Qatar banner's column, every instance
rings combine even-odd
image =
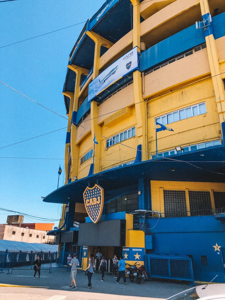
[[[79,91],[80,91],[80,77],[82,74],[87,74],[88,70],[75,66],[74,64],[68,65],[68,68],[76,73],[76,81],[74,87],[74,98],[73,98],[73,112],[78,110],[79,102]],[[72,113],[73,113],[72,112]],[[71,115],[72,119],[72,115]],[[71,120],[70,119],[70,120]],[[77,168],[79,165],[79,146],[76,145],[76,132],[77,126],[72,124],[71,126],[71,136],[70,136],[70,153],[71,153],[71,167],[70,167],[70,178],[74,181],[74,176],[77,176]]]

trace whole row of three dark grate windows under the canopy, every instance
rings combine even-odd
[[[164,190],[165,217],[186,217],[187,203],[185,190]],[[208,191],[188,191],[190,216],[206,216],[213,214],[211,195]],[[214,192],[215,209],[223,212],[225,193]]]

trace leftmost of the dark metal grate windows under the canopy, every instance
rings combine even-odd
[[[165,217],[186,217],[187,205],[184,190],[164,190]]]

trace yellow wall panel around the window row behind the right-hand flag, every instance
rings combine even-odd
[[[199,51],[200,52],[200,51]],[[205,102],[207,113],[168,124],[174,131],[157,134],[158,152],[220,139],[221,134],[212,80],[207,79],[147,103],[149,152],[155,154],[155,118]]]

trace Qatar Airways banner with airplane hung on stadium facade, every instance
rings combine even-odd
[[[137,70],[139,56],[140,54],[137,52],[137,47],[135,47],[117,59],[110,67],[92,80],[88,89],[88,102],[123,76],[131,71]]]

